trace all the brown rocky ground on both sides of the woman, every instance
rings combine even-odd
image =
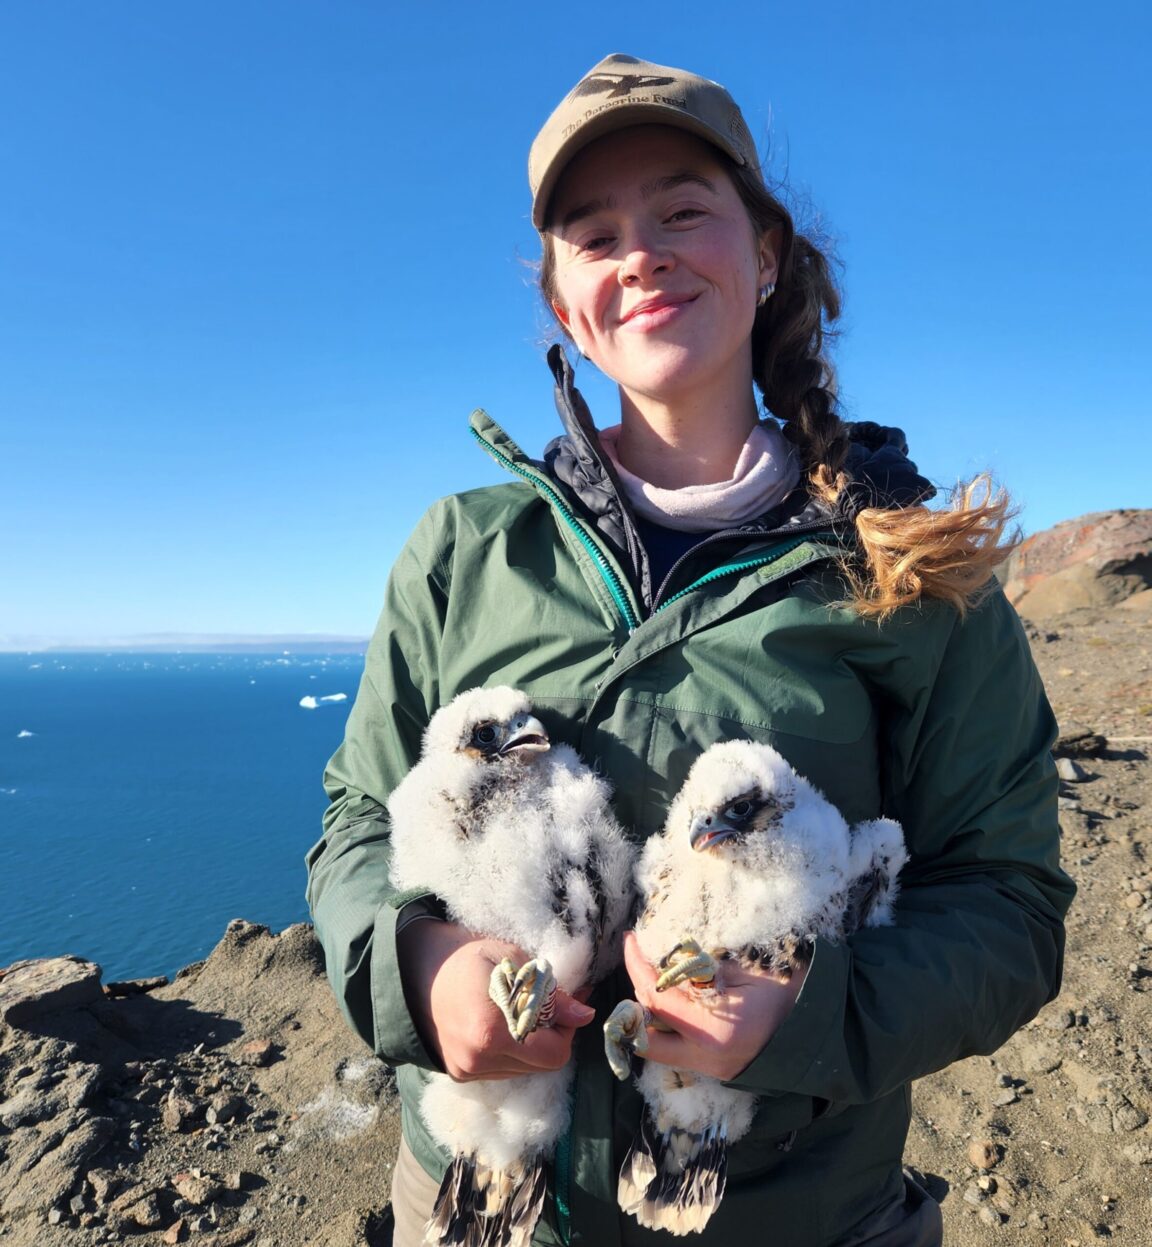
[[[1030,633],[1065,729],[1065,986],[918,1084],[908,1158],[950,1245],[1152,1243],[1152,611]],[[391,1074],[308,928],[237,922],[172,984],[113,990],[76,963],[0,978],[0,1243],[385,1241]]]

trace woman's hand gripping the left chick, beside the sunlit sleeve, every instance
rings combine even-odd
[[[595,1016],[595,1010],[557,989],[554,1025],[517,1044],[487,985],[502,958],[516,965],[529,959],[522,949],[429,919],[405,927],[396,950],[416,1030],[458,1082],[559,1070],[572,1052],[576,1028]]]

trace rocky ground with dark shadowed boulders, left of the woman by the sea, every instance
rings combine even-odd
[[[51,969],[0,979],[0,1243],[385,1241],[391,1071],[344,1025],[309,927],[234,922],[118,999],[91,999],[87,963]]]

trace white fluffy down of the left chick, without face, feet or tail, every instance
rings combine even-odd
[[[524,762],[481,762],[465,751],[479,720],[510,722],[530,711],[524,693],[499,687],[461,693],[433,716],[420,762],[388,803],[390,873],[398,888],[435,893],[476,934],[546,958],[572,993],[620,960],[635,852],[611,812],[608,786],[569,746]],[[583,869],[590,862],[605,883],[598,898]],[[564,918],[557,892],[566,897]],[[561,1136],[571,1079],[571,1064],[492,1082],[434,1075],[421,1114],[449,1151],[507,1168]]]

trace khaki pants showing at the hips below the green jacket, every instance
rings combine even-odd
[[[420,1247],[439,1190],[440,1183],[424,1172],[401,1140],[391,1176],[393,1247]],[[878,1212],[838,1247],[940,1247],[943,1242],[940,1206],[905,1173],[904,1202]]]

